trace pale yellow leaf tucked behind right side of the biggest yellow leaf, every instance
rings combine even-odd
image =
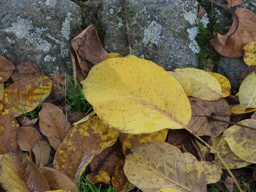
[[[208,101],[217,100],[223,96],[218,81],[203,70],[188,67],[176,69],[170,75],[179,81],[187,96]]]

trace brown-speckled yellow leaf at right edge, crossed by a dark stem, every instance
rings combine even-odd
[[[239,122],[256,129],[255,119],[245,119]],[[233,125],[223,133],[223,138],[227,141],[231,151],[250,163],[256,163],[256,130]]]

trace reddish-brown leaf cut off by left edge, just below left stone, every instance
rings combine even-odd
[[[7,81],[7,79],[12,76],[12,71],[14,70],[14,64],[8,61],[4,56],[0,55],[0,83]]]

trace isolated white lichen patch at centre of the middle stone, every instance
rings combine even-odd
[[[144,30],[143,43],[148,44],[148,42],[151,42],[152,44],[158,45],[160,43],[160,34],[162,28],[163,27],[156,21],[152,21],[148,28]]]

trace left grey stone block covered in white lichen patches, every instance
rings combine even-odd
[[[15,65],[38,64],[43,73],[70,72],[70,40],[81,25],[81,11],[70,0],[0,1],[0,55]]]

